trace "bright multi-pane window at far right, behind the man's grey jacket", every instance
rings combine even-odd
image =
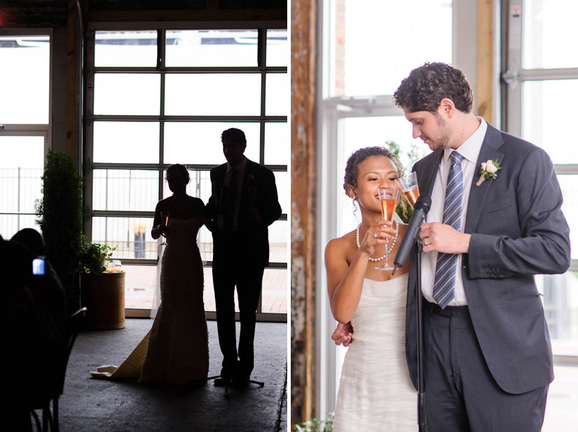
[[[562,12],[562,13],[560,13]],[[506,83],[507,131],[550,155],[570,225],[572,264],[566,274],[539,276],[555,363],[578,365],[578,146],[572,120],[578,116],[578,42],[572,0],[511,0]],[[570,126],[570,127],[569,127]]]

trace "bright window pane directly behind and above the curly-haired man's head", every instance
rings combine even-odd
[[[331,20],[329,95],[324,97],[392,95],[420,64],[451,62],[451,0],[415,0],[411,7],[383,0],[343,5]]]

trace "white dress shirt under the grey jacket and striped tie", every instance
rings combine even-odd
[[[488,130],[488,123],[483,118],[476,117],[480,122],[478,129],[468,139],[466,139],[460,147],[455,151],[464,157],[462,160],[462,179],[463,179],[463,195],[462,195],[462,218],[460,221],[460,232],[464,232],[467,216],[467,204],[469,201],[469,191],[472,188],[472,181],[474,176],[479,173],[480,167],[476,166],[478,157],[480,155],[481,145],[484,137],[486,137],[486,130]],[[443,152],[443,158],[439,164],[439,169],[436,174],[434,189],[432,191],[432,207],[427,214],[427,223],[443,221],[443,202],[446,198],[446,184],[448,183],[448,172],[450,172],[450,154],[454,151],[453,148],[448,148]],[[477,178],[476,178],[477,180]],[[425,193],[425,190],[423,191]],[[434,279],[436,275],[437,252],[422,253],[422,294],[428,302],[435,303],[434,300]],[[466,295],[464,291],[464,283],[462,281],[462,254],[457,256],[457,267],[455,272],[455,290],[454,297],[448,303],[448,306],[465,306],[467,305]]]

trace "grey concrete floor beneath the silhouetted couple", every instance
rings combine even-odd
[[[229,390],[201,386],[148,386],[133,380],[92,379],[98,365],[120,364],[151,327],[127,319],[126,328],[84,332],[71,353],[60,397],[62,432],[287,431],[287,325],[257,323],[253,379],[264,387]],[[239,325],[239,323],[237,323]],[[209,375],[221,370],[216,322],[209,321]]]

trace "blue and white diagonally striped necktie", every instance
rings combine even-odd
[[[451,165],[446,185],[446,200],[443,202],[443,223],[454,230],[460,230],[462,221],[462,160],[464,157],[453,151],[450,155]],[[436,277],[434,281],[434,300],[443,309],[453,299],[455,288],[455,267],[457,254],[438,253]]]

